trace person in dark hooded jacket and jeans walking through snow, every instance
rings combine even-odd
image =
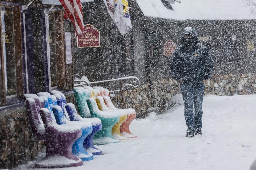
[[[198,43],[193,28],[183,29],[181,43],[172,55],[171,71],[173,79],[180,82],[187,137],[194,137],[195,133],[202,134],[204,83],[211,77],[213,65],[208,49]]]

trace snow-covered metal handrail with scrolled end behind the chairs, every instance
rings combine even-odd
[[[74,80],[74,87],[79,87],[84,85],[91,86],[92,84],[96,84],[96,83],[106,83],[106,82],[113,82],[113,81],[119,81],[119,83],[121,83],[122,80],[130,80],[130,79],[134,80],[131,84],[127,83],[124,86],[120,84],[119,90],[112,90],[109,92],[120,92],[120,91],[131,92],[133,88],[136,88],[139,86],[139,82],[140,82],[140,80],[134,76],[128,76],[128,77],[122,77],[122,78],[110,79],[110,80],[101,80],[101,81],[95,81],[95,82],[89,82],[87,80]]]

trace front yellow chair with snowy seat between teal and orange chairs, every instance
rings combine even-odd
[[[117,122],[113,127],[112,127],[112,135],[119,139],[119,140],[126,140],[127,137],[123,136],[121,133],[120,133],[120,126],[122,125],[122,123],[124,121],[126,121],[127,119],[127,114],[123,114],[121,111],[119,110],[111,110],[109,109],[105,103],[104,103],[104,100],[101,96],[98,96],[96,97],[96,103],[99,107],[99,109],[101,111],[111,111],[111,112],[115,112],[117,114],[119,114],[119,122]]]

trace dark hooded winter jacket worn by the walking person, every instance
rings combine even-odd
[[[184,35],[194,36],[194,46],[185,45]],[[172,55],[171,72],[172,77],[183,82],[201,83],[204,79],[209,79],[212,73],[212,59],[208,49],[198,43],[195,30],[187,27],[181,34],[182,45],[179,46]]]

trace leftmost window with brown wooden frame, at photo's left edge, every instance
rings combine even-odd
[[[0,2],[0,105],[23,94],[20,6]]]

